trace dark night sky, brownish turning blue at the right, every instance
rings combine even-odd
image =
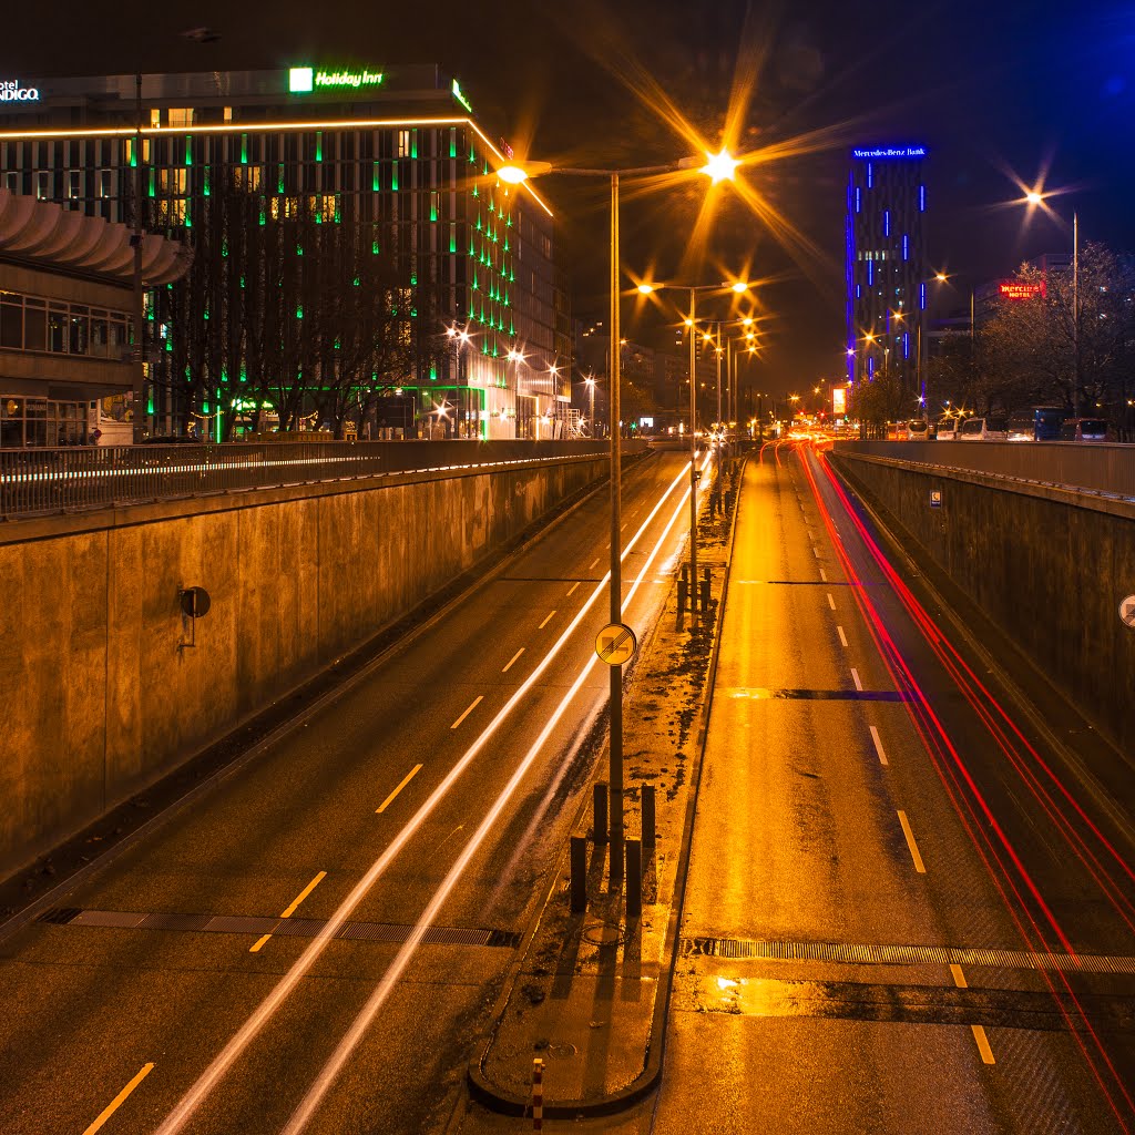
[[[759,385],[788,392],[842,367],[843,185],[852,143],[930,150],[932,269],[972,283],[1024,258],[1070,247],[1070,226],[999,203],[1016,174],[1068,187],[1083,239],[1135,250],[1135,3],[783,3],[620,0],[602,5],[356,3],[262,0],[192,6],[67,0],[5,12],[0,75],[205,70],[295,62],[439,62],[461,77],[478,118],[532,158],[621,167],[690,150],[636,93],[653,78],[716,148],[734,75],[753,78],[741,151],[806,140],[742,171],[797,229],[785,249],[732,192],[690,250],[704,193],[625,197],[623,261],[655,278],[742,272],[771,281],[760,306],[768,346]],[[199,25],[221,39],[178,33]],[[646,78],[645,78],[646,77]],[[798,152],[804,151],[804,152]],[[603,318],[606,188],[548,179],[577,314]],[[949,292],[940,313],[951,306]],[[641,314],[637,312],[641,311]],[[938,312],[936,312],[938,313]],[[663,317],[628,300],[624,333],[665,342]]]

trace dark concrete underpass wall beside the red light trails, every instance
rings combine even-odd
[[[1135,594],[1135,504],[849,452],[831,461],[1085,717],[1135,754],[1135,629],[1119,619]],[[932,490],[941,507],[931,507]]]

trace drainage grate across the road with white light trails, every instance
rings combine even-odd
[[[176,930],[204,934],[275,934],[279,938],[317,938],[327,926],[322,918],[266,918],[245,915],[136,914],[128,910],[81,910],[61,907],[40,915],[39,922],[53,926],[91,926],[103,930]],[[344,923],[338,939],[351,942],[405,942],[413,926],[394,923]],[[431,945],[490,945],[519,948],[521,935],[507,930],[468,930],[461,926],[430,926],[422,942]]]

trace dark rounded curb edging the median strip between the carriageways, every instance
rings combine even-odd
[[[740,476],[741,479],[743,479],[745,470],[748,465],[750,455],[746,453],[741,456]],[[701,770],[705,759],[706,740],[709,733],[709,715],[713,711],[714,680],[717,674],[717,659],[721,654],[721,631],[724,628],[725,621],[725,602],[729,596],[729,578],[733,565],[733,547],[737,543],[737,519],[740,512],[740,506],[741,493],[739,490],[737,499],[733,502],[733,515],[730,521],[729,550],[725,556],[725,572],[722,578],[717,634],[714,637],[713,650],[706,670],[706,693],[705,700],[701,705],[700,720],[698,722],[697,740],[693,746],[696,760],[692,770],[692,776],[690,779],[690,792],[686,801],[686,814],[682,818],[682,835],[679,843],[678,869],[674,877],[674,900],[671,903],[670,918],[666,924],[666,938],[663,947],[662,967],[658,977],[658,991],[655,994],[654,1011],[650,1015],[650,1032],[647,1039],[646,1061],[642,1071],[639,1073],[639,1075],[631,1081],[630,1084],[620,1088],[617,1092],[609,1093],[608,1095],[587,1100],[565,1100],[558,1103],[549,1102],[545,1096],[544,1116],[548,1119],[585,1119],[588,1117],[615,1115],[616,1112],[624,1111],[627,1108],[632,1107],[649,1095],[657,1087],[658,1081],[662,1078],[662,1063],[666,1045],[665,1025],[666,1017],[670,1014],[670,997],[674,984],[674,970],[678,965],[678,928],[681,923],[682,908],[686,903],[686,883],[689,876],[690,850],[693,843],[693,821],[697,813],[698,792],[701,787]],[[698,515],[700,519],[700,506]],[[676,582],[672,585],[672,588],[673,587],[676,587]],[[589,806],[586,792],[583,793],[583,797],[585,799],[581,808],[586,809]],[[472,1058],[466,1066],[469,1094],[472,1099],[477,1100],[478,1103],[481,1103],[491,1111],[501,1115],[516,1117],[526,1116],[530,1110],[531,1101],[527,1096],[516,1095],[506,1088],[498,1087],[485,1075],[482,1065],[488,1057],[493,1036],[496,1033],[496,1027],[499,1023],[503,1010],[507,1007],[507,1003],[512,998],[519,968],[523,965],[523,959],[527,957],[532,938],[536,934],[536,930],[544,915],[544,910],[555,891],[556,883],[560,881],[561,874],[562,872],[557,869],[555,877],[552,881],[552,886],[540,906],[539,913],[533,917],[532,924],[526,932],[524,951],[518,955],[513,973],[506,981],[506,985],[502,990],[501,997],[494,1006],[491,1018],[493,1026],[489,1040],[484,1045],[480,1053]]]

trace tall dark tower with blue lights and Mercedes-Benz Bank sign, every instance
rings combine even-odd
[[[847,200],[848,380],[884,365],[922,395],[926,311],[926,148],[851,151]]]

